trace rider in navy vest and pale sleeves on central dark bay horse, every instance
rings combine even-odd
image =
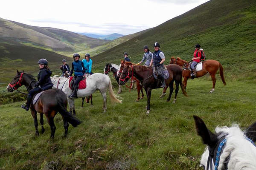
[[[154,67],[157,69],[158,73],[158,78],[161,79],[163,88],[165,88],[165,79],[163,77],[163,70],[164,70],[164,65],[163,62],[165,61],[165,57],[162,51],[160,51],[160,44],[158,42],[154,43],[154,52],[152,54],[152,59],[149,64],[149,67],[151,67],[152,64],[154,64]]]

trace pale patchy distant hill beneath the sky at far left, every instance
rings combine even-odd
[[[109,41],[57,28],[29,26],[0,18],[0,41],[10,43],[10,40],[60,54],[71,54],[75,51],[94,48]]]

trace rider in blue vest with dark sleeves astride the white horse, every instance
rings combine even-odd
[[[79,82],[85,77],[85,68],[83,62],[81,62],[80,55],[78,53],[73,54],[74,61],[72,62],[72,68],[70,72],[70,76],[72,76],[73,71],[76,77],[74,82],[72,94],[69,96],[70,98],[77,98],[77,90],[79,86]]]

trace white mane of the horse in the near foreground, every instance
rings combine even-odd
[[[226,145],[220,156],[218,169],[222,169],[228,156],[230,156],[228,169],[256,169],[256,147],[244,138],[245,135],[239,129],[238,125],[233,125],[232,127],[216,127],[215,131],[216,133],[228,133]]]

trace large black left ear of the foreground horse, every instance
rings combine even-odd
[[[206,127],[204,121],[200,117],[195,115],[193,117],[195,120],[195,129],[198,135],[202,137],[203,143],[209,146],[214,146],[217,142],[217,136]]]

